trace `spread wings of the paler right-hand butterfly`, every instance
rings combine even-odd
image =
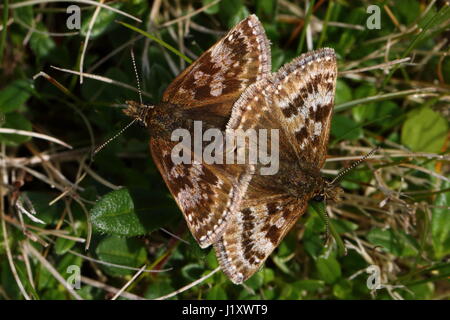
[[[228,129],[278,129],[280,142],[278,173],[252,177],[239,210],[214,244],[234,283],[262,266],[307,208],[313,195],[309,185],[318,178],[312,174],[326,156],[336,76],[334,51],[314,51],[249,87],[233,107]],[[286,192],[280,178],[286,173],[304,181],[300,197]]]

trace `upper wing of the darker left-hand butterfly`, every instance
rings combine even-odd
[[[166,89],[163,101],[228,118],[245,88],[270,70],[269,41],[251,15],[184,70]]]

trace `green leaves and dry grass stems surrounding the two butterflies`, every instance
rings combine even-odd
[[[0,299],[450,297],[448,1],[100,0],[77,3],[80,30],[66,26],[70,4],[2,0]],[[368,28],[377,12],[380,28]],[[347,255],[324,246],[309,210],[241,287],[191,238],[144,128],[91,151],[130,120],[121,108],[138,99],[131,47],[155,103],[188,65],[181,55],[194,60],[250,13],[271,40],[273,70],[313,48],[337,52],[325,173],[381,149],[328,206]],[[55,68],[81,65],[82,84]],[[73,290],[65,280],[76,283],[77,267]]]

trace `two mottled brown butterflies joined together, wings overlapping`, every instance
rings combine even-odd
[[[242,283],[278,246],[313,197],[336,188],[320,175],[334,102],[332,49],[304,54],[271,73],[269,41],[255,15],[237,24],[166,89],[162,102],[128,102],[144,123],[161,175],[202,248],[214,245],[224,273]],[[279,170],[256,165],[174,164],[171,133],[194,121],[222,131],[277,129]]]

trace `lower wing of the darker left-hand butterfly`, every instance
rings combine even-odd
[[[174,164],[171,151],[177,142],[150,139],[153,160],[170,193],[183,212],[192,236],[200,247],[216,242],[230,213],[237,209],[250,180],[242,166]]]

